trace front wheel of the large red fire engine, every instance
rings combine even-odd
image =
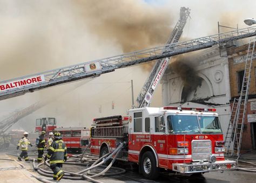
[[[156,179],[159,176],[156,158],[151,151],[147,151],[143,154],[142,160],[140,161],[140,168],[142,174],[147,179]]]

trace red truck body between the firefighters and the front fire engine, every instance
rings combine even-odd
[[[62,135],[62,139],[68,150],[72,152],[80,152],[90,142],[90,129],[86,128],[56,128]]]

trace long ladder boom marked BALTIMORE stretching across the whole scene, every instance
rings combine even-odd
[[[124,68],[151,60],[171,57],[181,53],[202,50],[213,45],[252,36],[256,36],[256,26],[1,81],[0,100],[84,78],[93,78],[100,74],[113,72],[117,68]]]

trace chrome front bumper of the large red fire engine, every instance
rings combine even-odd
[[[215,163],[173,163],[172,170],[180,173],[200,173],[200,172],[212,172],[212,171],[224,171],[237,169],[237,161],[224,160],[215,161]]]

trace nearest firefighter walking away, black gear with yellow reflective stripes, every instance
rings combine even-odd
[[[54,140],[49,147],[44,160],[50,158],[50,168],[53,171],[53,180],[62,179],[64,172],[60,169],[64,161],[67,160],[68,154],[66,152],[66,145],[62,140],[59,132],[54,133]]]

